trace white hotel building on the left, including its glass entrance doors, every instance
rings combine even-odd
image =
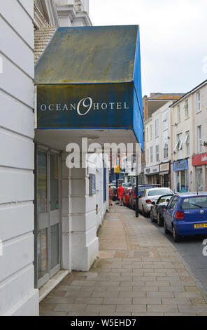
[[[66,167],[65,149],[37,136],[34,114],[34,28],[38,60],[60,25],[91,25],[88,3],[0,4],[0,315],[38,315],[39,299],[99,253],[108,170]]]

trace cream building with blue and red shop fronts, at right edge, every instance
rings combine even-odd
[[[171,170],[176,192],[207,190],[206,85],[204,81],[171,106]]]

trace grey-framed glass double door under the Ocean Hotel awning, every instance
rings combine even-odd
[[[36,152],[35,272],[40,288],[60,269],[59,154]]]

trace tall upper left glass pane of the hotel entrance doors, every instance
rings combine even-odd
[[[38,213],[44,213],[47,212],[47,154],[38,151],[37,162],[37,207]]]

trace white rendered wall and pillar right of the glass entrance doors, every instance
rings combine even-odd
[[[87,271],[99,255],[97,230],[108,207],[108,193],[103,202],[102,169],[68,169],[67,156],[64,153],[62,159],[62,268]],[[93,196],[90,173],[96,175],[97,194]],[[108,170],[106,178],[108,183]]]

